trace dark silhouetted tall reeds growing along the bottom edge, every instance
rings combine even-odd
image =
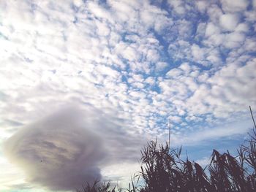
[[[213,150],[211,161],[205,169],[195,161],[181,159],[181,148],[170,149],[168,144],[148,142],[141,150],[141,170],[128,192],[255,192],[256,191],[256,128],[238,155]],[[110,184],[95,183],[78,192],[115,192]]]

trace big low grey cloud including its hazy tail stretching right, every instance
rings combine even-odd
[[[135,160],[132,153],[139,139],[109,118],[93,107],[65,107],[22,128],[7,139],[4,150],[30,183],[75,190],[102,179],[100,170],[105,165]]]

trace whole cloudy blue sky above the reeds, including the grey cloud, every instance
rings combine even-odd
[[[169,122],[202,165],[235,153],[256,111],[255,31],[255,0],[1,0],[0,191],[128,184]]]

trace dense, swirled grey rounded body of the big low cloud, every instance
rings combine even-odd
[[[53,190],[70,190],[85,180],[100,179],[99,159],[105,156],[91,125],[86,122],[87,129],[82,128],[79,119],[72,117],[74,112],[65,113],[21,129],[5,144],[10,161],[25,169],[29,182]]]

